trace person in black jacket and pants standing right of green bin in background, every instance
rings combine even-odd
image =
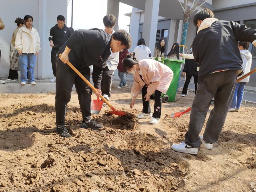
[[[190,46],[190,50],[192,53],[192,45]],[[198,64],[195,62],[194,59],[185,59],[183,75],[186,75],[185,84],[182,90],[182,97],[185,97],[188,92],[188,84],[190,83],[190,79],[193,76],[194,84],[195,84],[195,94],[197,90],[197,82],[198,82],[198,72],[197,72]]]

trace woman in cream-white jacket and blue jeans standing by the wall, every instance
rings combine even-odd
[[[15,40],[15,48],[20,54],[20,80],[21,85],[26,85],[27,78],[28,83],[35,85],[34,68],[36,55],[40,51],[40,38],[37,30],[32,27],[33,17],[26,15],[24,22],[25,26],[18,30]]]

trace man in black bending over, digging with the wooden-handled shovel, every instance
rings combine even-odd
[[[110,56],[110,51],[118,52],[131,46],[131,37],[125,30],[118,30],[112,36],[103,30],[76,30],[60,47],[56,70],[56,124],[57,132],[62,137],[71,137],[65,126],[66,108],[70,102],[72,87],[75,84],[80,109],[82,112],[82,128],[98,130],[102,125],[91,120],[92,89],[67,65],[68,60],[90,81],[90,68],[93,66],[92,80],[101,94],[100,82],[104,62]]]

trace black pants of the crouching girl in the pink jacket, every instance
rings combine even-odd
[[[145,101],[146,98],[144,98],[144,96],[147,94],[147,85],[144,85],[144,87],[142,87],[142,102],[143,102],[143,109],[142,112],[143,113],[151,113],[151,109],[150,109],[150,100],[149,101]],[[161,117],[161,109],[162,109],[162,97],[161,97],[162,92],[156,90],[155,91],[155,104],[154,104],[154,112],[153,112],[153,117],[154,118],[160,118]]]

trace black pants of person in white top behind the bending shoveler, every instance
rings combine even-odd
[[[108,95],[109,97],[111,96],[110,91],[111,91],[111,84],[112,84],[112,78],[111,76],[113,75],[115,70],[109,70],[108,66],[106,66],[102,72],[102,79],[100,83],[100,88],[102,95]]]

